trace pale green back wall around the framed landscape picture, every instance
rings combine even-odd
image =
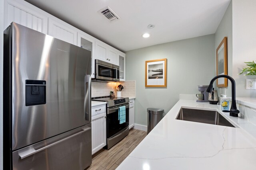
[[[145,40],[146,41],[146,40]],[[167,88],[145,88],[145,61],[167,58]],[[147,108],[167,113],[179,94],[196,94],[214,77],[214,34],[126,52],[126,80],[136,80],[135,123],[147,125]]]

